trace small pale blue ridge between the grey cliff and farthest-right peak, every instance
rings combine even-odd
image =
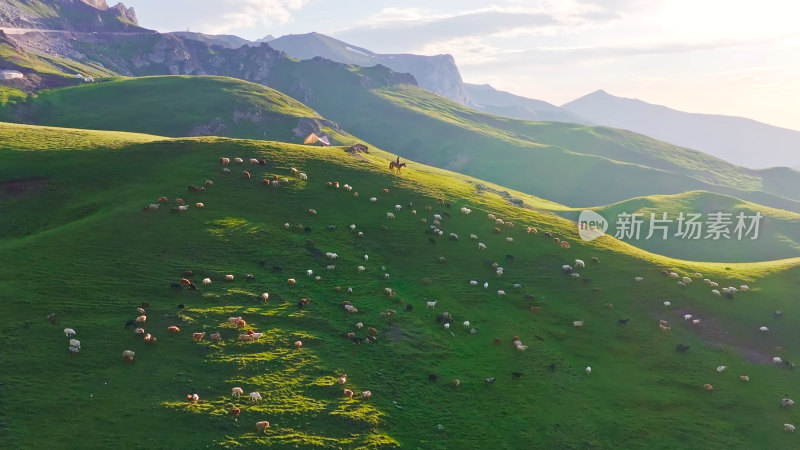
[[[464,83],[467,106],[512,119],[591,124],[579,115],[542,100],[499,91],[488,84]]]

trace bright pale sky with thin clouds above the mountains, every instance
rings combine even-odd
[[[800,130],[796,0],[128,0],[158,31],[316,31],[452,54],[465,82],[562,105],[603,89]]]

